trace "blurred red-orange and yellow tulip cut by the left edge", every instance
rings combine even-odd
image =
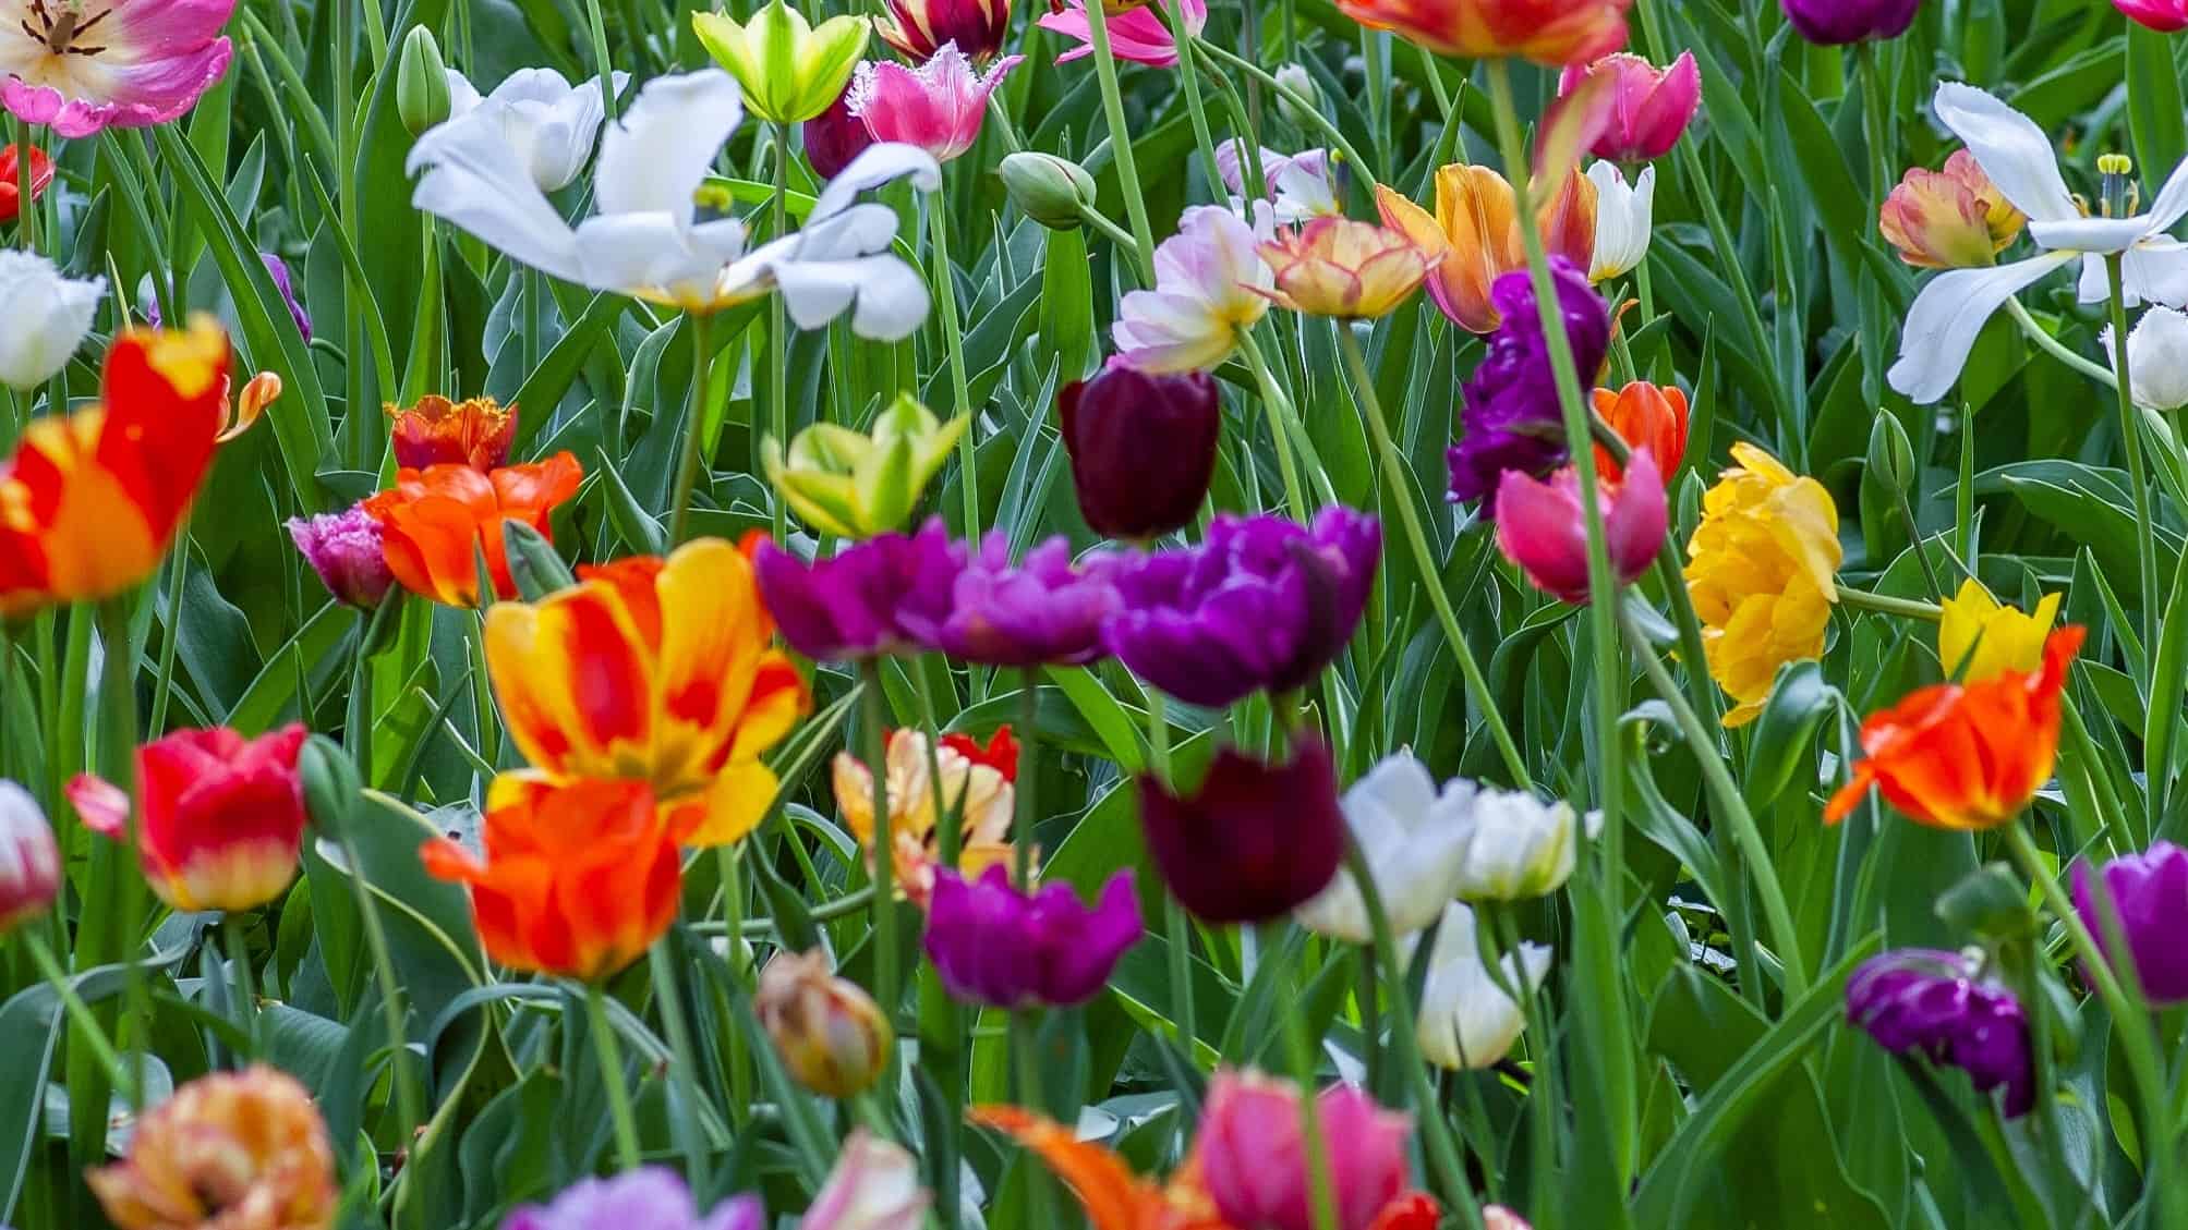
[[[109,599],[158,566],[228,426],[228,334],[133,330],[101,404],[33,422],[0,463],[0,616]]]

